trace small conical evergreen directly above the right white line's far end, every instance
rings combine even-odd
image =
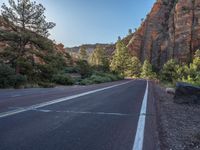
[[[152,65],[147,60],[144,61],[144,64],[142,66],[141,77],[146,79],[156,78],[156,74],[153,72]]]

